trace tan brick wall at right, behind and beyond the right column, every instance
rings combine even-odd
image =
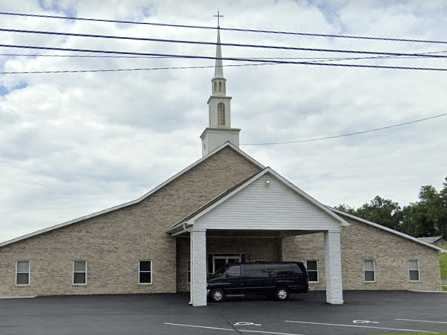
[[[345,290],[439,290],[440,269],[438,254],[417,243],[384,232],[357,221],[343,229],[342,269]],[[283,239],[284,260],[318,260],[320,280],[313,289],[325,288],[323,233]],[[363,262],[376,262],[376,281],[363,281]],[[408,280],[408,261],[418,259],[420,281]]]

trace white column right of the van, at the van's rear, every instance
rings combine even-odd
[[[326,302],[343,304],[340,231],[324,233],[326,265]]]

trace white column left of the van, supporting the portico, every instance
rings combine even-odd
[[[191,303],[193,306],[206,306],[206,230],[193,230],[191,243]]]

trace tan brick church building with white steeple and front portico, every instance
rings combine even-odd
[[[220,32],[202,158],[140,198],[0,243],[0,297],[190,292],[225,264],[301,261],[343,290],[440,290],[442,249],[332,209],[239,148]],[[299,182],[299,181],[298,181]]]

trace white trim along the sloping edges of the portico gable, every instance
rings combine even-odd
[[[218,201],[216,201],[215,203],[213,203],[211,206],[206,207],[203,211],[197,213],[196,215],[194,215],[193,217],[191,217],[189,220],[187,220],[187,222],[180,222],[179,224],[175,225],[174,227],[172,227],[169,232],[173,232],[175,235],[180,234],[181,232],[179,232],[178,228],[179,227],[183,227],[183,229],[187,229],[188,227],[193,226],[194,222],[196,220],[198,220],[200,217],[202,217],[203,215],[211,212],[214,208],[218,207],[219,205],[221,205],[222,203],[224,203],[225,201],[227,201],[228,199],[232,198],[234,195],[236,195],[237,193],[241,192],[242,190],[244,190],[245,188],[247,188],[249,185],[253,184],[255,181],[257,181],[258,179],[260,179],[262,176],[264,176],[265,174],[270,173],[271,175],[273,175],[275,178],[277,178],[281,183],[283,183],[284,185],[286,185],[287,187],[289,187],[292,191],[294,191],[295,193],[297,193],[298,195],[300,195],[301,197],[303,197],[304,199],[306,199],[307,201],[309,201],[311,204],[313,204],[315,207],[319,208],[321,211],[323,211],[325,214],[327,214],[329,217],[331,217],[332,219],[334,219],[335,221],[338,221],[340,223],[341,226],[349,226],[349,223],[347,223],[343,218],[341,218],[340,216],[338,216],[336,213],[332,212],[330,209],[328,209],[326,206],[324,206],[323,204],[321,204],[319,201],[317,201],[316,199],[314,199],[313,197],[311,197],[310,195],[308,195],[307,193],[305,193],[304,191],[302,191],[301,189],[299,189],[298,187],[296,187],[294,184],[292,184],[291,182],[289,182],[287,179],[285,179],[284,177],[282,177],[280,174],[278,174],[276,171],[274,171],[273,169],[271,169],[270,167],[265,168],[263,171],[261,171],[260,173],[256,174],[255,176],[253,176],[252,178],[250,178],[249,180],[247,180],[245,183],[243,183],[242,185],[240,185],[239,187],[237,187],[235,190],[233,190],[232,192],[230,192],[229,194],[227,194],[226,196],[222,197],[222,199],[219,199]]]

